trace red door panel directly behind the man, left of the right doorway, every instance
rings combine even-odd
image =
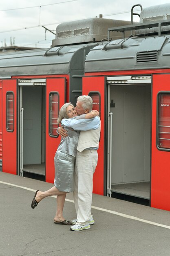
[[[84,76],[82,78],[82,95],[89,95],[93,99],[93,110],[100,112],[101,134],[98,153],[98,163],[93,176],[93,193],[105,195],[105,144],[104,144],[104,125],[105,125],[105,97],[106,97],[106,77],[105,76]]]

